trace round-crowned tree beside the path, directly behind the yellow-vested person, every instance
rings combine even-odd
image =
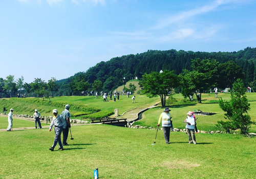
[[[142,92],[148,97],[159,95],[162,106],[165,106],[166,97],[172,95],[174,88],[179,86],[179,79],[173,71],[164,70],[162,73],[145,73],[139,84],[143,88]]]

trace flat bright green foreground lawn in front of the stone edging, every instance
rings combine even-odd
[[[64,151],[50,151],[54,131],[1,132],[0,178],[255,178],[256,138],[200,133],[197,145],[184,132],[109,125],[72,128]],[[69,137],[70,138],[70,137]],[[55,149],[58,148],[58,145]]]

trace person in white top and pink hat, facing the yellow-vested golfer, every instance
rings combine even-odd
[[[193,112],[188,111],[186,122],[186,133],[188,136],[188,144],[197,144],[195,136],[195,119],[193,118]]]

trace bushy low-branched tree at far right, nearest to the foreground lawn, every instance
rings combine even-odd
[[[254,122],[251,121],[250,116],[248,115],[248,110],[250,110],[250,104],[246,98],[246,88],[244,87],[243,82],[238,79],[233,84],[231,90],[231,99],[230,101],[223,101],[222,98],[219,100],[219,105],[222,110],[226,113],[225,119],[229,121],[218,121],[217,126],[223,127],[227,131],[230,129],[240,129],[241,134],[248,135],[248,130],[250,125]]]

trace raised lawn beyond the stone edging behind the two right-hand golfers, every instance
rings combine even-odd
[[[209,96],[210,95],[210,96]],[[199,130],[217,130],[216,124],[217,121],[226,119],[224,118],[224,111],[219,107],[219,103],[215,102],[216,100],[215,94],[203,94],[202,95],[202,103],[197,103],[197,101],[186,101],[183,102],[183,97],[181,94],[176,94],[173,97],[175,100],[173,100],[171,105],[167,105],[166,107],[169,107],[171,109],[170,113],[174,115],[173,118],[173,126],[179,129],[185,128],[184,123],[182,123],[186,117],[188,111],[194,111],[200,109],[204,112],[211,112],[211,113],[217,113],[216,115],[212,116],[197,116],[197,127]],[[251,117],[252,121],[256,122],[256,111],[253,110],[256,107],[256,95],[254,93],[248,93],[247,94],[248,101],[250,103],[251,110],[248,111],[248,114]],[[218,94],[218,97],[223,98],[224,100],[230,100],[230,93],[222,93]],[[164,107],[157,106],[153,109],[147,110],[143,114],[143,119],[135,122],[135,125],[142,125],[142,126],[152,126],[156,127],[158,123],[158,119],[162,111],[164,110]],[[251,125],[251,128],[249,130],[250,132],[256,133],[256,126]]]

